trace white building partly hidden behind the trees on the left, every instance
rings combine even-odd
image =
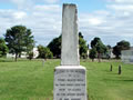
[[[38,58],[38,56],[39,56],[38,48],[33,48],[32,52],[33,52],[33,58],[34,59]],[[16,54],[7,53],[7,58],[16,58]],[[22,52],[21,58],[28,58],[27,52]]]

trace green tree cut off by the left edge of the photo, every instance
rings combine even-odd
[[[0,57],[6,56],[8,52],[8,47],[4,39],[0,38]]]

